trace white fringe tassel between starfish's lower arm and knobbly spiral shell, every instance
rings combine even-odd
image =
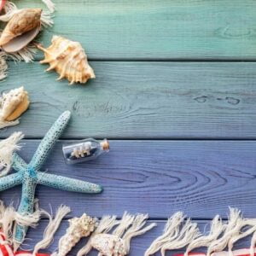
[[[33,255],[38,253],[40,249],[45,249],[49,247],[49,244],[53,241],[53,237],[55,232],[58,230],[61,220],[67,215],[67,213],[71,212],[71,209],[66,206],[61,206],[58,208],[57,212],[55,213],[55,218],[49,214],[49,212],[45,212],[44,214],[49,218],[49,224],[44,230],[44,238],[42,241],[39,241],[33,251]]]

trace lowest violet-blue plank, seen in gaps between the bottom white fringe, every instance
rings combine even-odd
[[[143,236],[137,236],[131,240],[131,253],[129,253],[129,256],[143,256],[143,253],[146,251],[146,249],[149,247],[152,241],[158,236],[162,234],[162,230],[164,229],[164,226],[166,224],[166,220],[160,221],[150,221],[150,222],[155,222],[157,223],[157,227],[154,228],[154,230],[150,230],[148,233],[146,233]],[[209,230],[209,221],[196,221],[198,223],[198,226],[201,230],[201,232],[207,232]],[[42,239],[43,232],[44,232],[44,227],[46,225],[46,221],[41,221],[39,224],[38,228],[36,230],[29,230],[27,237],[32,238],[32,241],[27,241],[28,246],[25,248],[30,248],[32,249],[32,246],[37,242]],[[55,240],[53,244],[49,247],[49,249],[45,250],[45,252],[53,252],[55,249],[57,249],[57,242],[59,241],[60,237],[65,234],[65,230],[67,229],[67,221],[63,221],[61,224],[60,230],[57,231],[55,235]],[[79,242],[76,247],[73,248],[71,253],[68,253],[68,255],[74,256],[76,253],[79,251],[79,248],[83,247],[85,242],[87,240],[83,239]],[[250,237],[247,237],[245,239],[242,239],[241,241],[238,241],[235,245],[235,249],[238,248],[245,248],[245,247],[250,247]],[[167,255],[175,255],[175,253],[183,253],[184,250],[179,250],[179,251],[172,251],[172,252],[167,252]],[[196,252],[205,252],[205,248],[200,248],[196,250]],[[88,254],[88,256],[96,256],[97,253],[96,251],[92,251]],[[156,253],[154,256],[160,256],[160,253]]]

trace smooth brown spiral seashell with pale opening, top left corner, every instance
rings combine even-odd
[[[34,39],[41,27],[42,9],[21,9],[13,15],[0,37],[6,52],[16,52]]]

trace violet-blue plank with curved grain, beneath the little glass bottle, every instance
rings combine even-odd
[[[67,142],[67,141],[65,141]],[[63,142],[62,142],[63,143]],[[26,141],[20,155],[30,160],[38,141]],[[167,218],[186,212],[191,218],[224,218],[228,207],[255,217],[256,142],[251,141],[111,141],[101,158],[67,166],[58,143],[44,169],[102,184],[101,195],[83,195],[39,186],[41,207],[66,204],[73,215],[148,212]],[[20,201],[20,187],[1,193],[4,201]]]

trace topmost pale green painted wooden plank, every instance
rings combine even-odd
[[[40,1],[16,1],[37,7]],[[92,59],[255,59],[254,0],[55,0],[55,26]]]

